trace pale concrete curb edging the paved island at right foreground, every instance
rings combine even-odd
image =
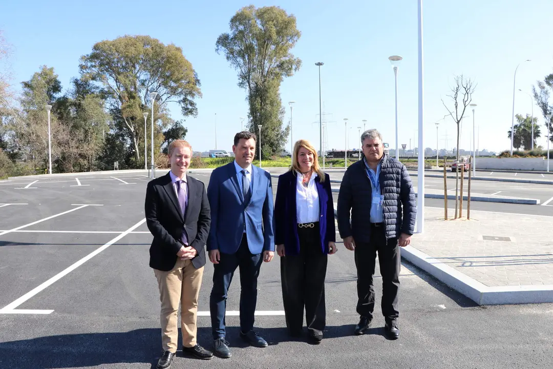
[[[462,293],[478,305],[553,302],[553,285],[488,287],[414,248],[401,249],[401,257]]]

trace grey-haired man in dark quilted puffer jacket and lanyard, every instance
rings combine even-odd
[[[405,165],[384,154],[382,136],[376,129],[363,132],[361,142],[363,160],[346,170],[337,206],[338,231],[344,246],[355,251],[357,313],[361,315],[355,334],[363,334],[373,318],[373,275],[378,252],[384,328],[390,339],[397,339],[399,247],[409,245],[415,230],[415,193]]]

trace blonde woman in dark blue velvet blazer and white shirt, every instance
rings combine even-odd
[[[309,339],[319,344],[326,325],[327,256],[336,252],[334,202],[311,143],[299,140],[292,155],[292,168],[279,176],[273,216],[284,312],[290,335],[297,337],[305,308]]]

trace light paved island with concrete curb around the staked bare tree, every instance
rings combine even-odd
[[[480,297],[469,297],[479,303],[553,301],[553,217],[472,211],[467,221],[465,209],[463,219],[452,220],[451,209],[448,215],[445,221],[443,209],[426,207],[424,233],[402,256],[462,293],[478,290]],[[485,293],[495,299],[482,299]]]

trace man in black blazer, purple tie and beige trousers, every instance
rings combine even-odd
[[[146,191],[146,224],[154,236],[150,267],[158,280],[161,301],[163,354],[157,366],[160,369],[171,365],[177,349],[179,303],[182,351],[202,359],[213,357],[196,342],[198,295],[206,263],[205,243],[211,214],[205,185],[186,175],[191,157],[192,147],[188,142],[171,142],[171,170],[150,181]]]

